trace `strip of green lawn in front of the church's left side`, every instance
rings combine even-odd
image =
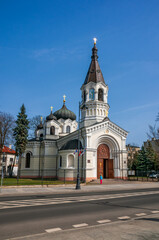
[[[65,182],[65,184],[74,184],[75,182]],[[64,184],[64,181],[59,180],[50,180],[44,179],[43,182],[41,179],[19,179],[17,181],[16,178],[4,178],[3,186],[16,186],[16,185],[60,185]]]

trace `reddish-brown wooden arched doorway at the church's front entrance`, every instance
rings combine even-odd
[[[100,144],[97,149],[97,178],[114,178],[113,159],[106,144]]]

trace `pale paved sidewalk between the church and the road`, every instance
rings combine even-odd
[[[105,180],[102,185],[98,184],[81,184],[81,189],[76,190],[76,185],[34,185],[34,186],[10,186],[2,187],[1,196],[8,195],[27,195],[27,194],[53,194],[53,193],[79,193],[79,192],[97,192],[97,191],[114,191],[114,190],[131,190],[131,189],[153,189],[159,188],[159,182],[138,182],[138,181],[121,181]]]

